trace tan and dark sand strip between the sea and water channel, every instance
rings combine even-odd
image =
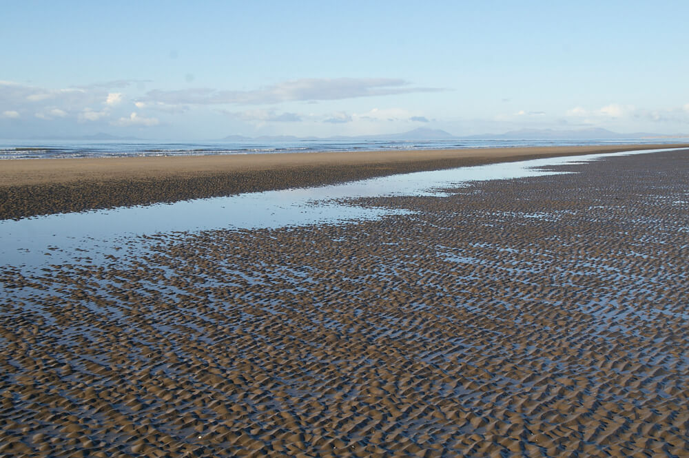
[[[677,145],[3,160],[0,219],[342,183],[411,171]]]

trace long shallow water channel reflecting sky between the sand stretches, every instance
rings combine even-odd
[[[562,172],[539,167],[665,150],[670,149],[420,171],[342,185],[0,220],[0,265],[39,268],[65,262],[97,263],[103,256],[123,247],[136,251],[136,238],[154,234],[370,220],[404,211],[346,205],[334,200],[378,196],[444,196],[446,194],[440,189],[462,187],[471,181],[553,175]]]

